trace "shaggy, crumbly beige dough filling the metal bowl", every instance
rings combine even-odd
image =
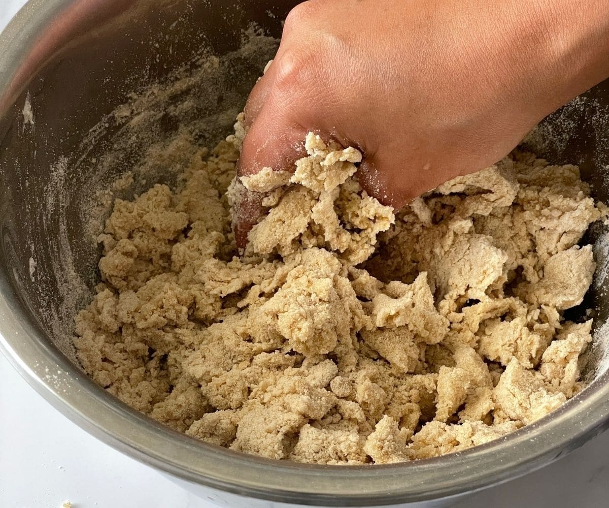
[[[313,134],[294,174],[230,185],[237,132],[178,190],[114,204],[75,341],[108,392],[214,445],[364,464],[488,442],[582,389],[591,321],[563,311],[607,213],[577,167],[515,152],[396,214],[354,179],[359,152]],[[246,188],[270,210],[239,257]]]

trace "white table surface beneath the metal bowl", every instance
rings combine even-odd
[[[0,0],[0,30],[24,0]],[[52,408],[0,354],[0,508],[209,508]],[[609,506],[609,432],[456,508]]]

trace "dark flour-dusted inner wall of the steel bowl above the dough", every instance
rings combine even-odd
[[[248,91],[276,49],[275,43],[254,56],[235,53],[244,32],[255,26],[280,37],[281,20],[298,2],[97,3],[99,10],[94,14],[83,15],[78,9],[62,13],[62,28],[41,34],[46,42],[41,44],[41,54],[30,59],[32,72],[13,83],[13,97],[0,95],[0,104],[5,104],[0,110],[2,282],[12,288],[18,315],[40,327],[72,359],[72,315],[99,282],[95,269],[99,248],[91,240],[86,214],[92,210],[86,196],[138,166],[153,143],[178,132],[181,120],[192,125],[197,119],[209,120],[206,128],[195,129],[201,146],[211,147],[227,135],[234,113],[244,106]],[[199,88],[193,85],[191,92],[198,98],[194,109],[183,118],[161,115],[150,122],[150,137],[134,137],[125,143],[128,131],[111,115],[116,107],[128,102],[133,91],[163,84],[178,70],[209,55],[219,58],[213,75],[216,82]],[[33,126],[24,121],[26,99],[32,105]],[[176,95],[172,104],[182,99]],[[580,165],[593,195],[607,202],[608,135],[609,81],[546,118],[527,145],[552,163]],[[117,146],[121,156],[110,162],[104,159]],[[174,183],[175,173],[165,170],[162,165],[152,168],[145,182],[136,179],[122,190],[122,196],[132,196],[155,182]],[[98,212],[95,218],[102,224],[107,210]],[[597,243],[597,284],[583,305],[595,310],[597,328],[609,314],[601,279],[609,259],[603,238],[599,226],[585,239]],[[603,333],[596,334],[588,376],[604,370],[608,344]]]

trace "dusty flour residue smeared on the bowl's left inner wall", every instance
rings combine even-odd
[[[31,239],[33,263],[26,258],[26,270],[37,283],[32,290],[41,324],[72,362],[78,364],[73,318],[99,280],[96,238],[114,200],[133,198],[157,182],[179,184],[177,176],[192,157],[230,131],[244,106],[242,88],[255,83],[277,46],[277,40],[249,29],[236,51],[216,56],[200,49],[163,82],[129,95],[75,153],[49,168],[44,203],[32,207],[44,209],[42,230],[57,233]],[[23,118],[33,128],[29,94]],[[60,297],[43,290],[49,287],[58,288]]]

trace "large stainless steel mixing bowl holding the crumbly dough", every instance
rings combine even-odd
[[[94,161],[116,143],[120,126],[108,123],[85,151],[83,138],[128,93],[168,79],[194,61],[201,48],[217,55],[233,51],[252,22],[278,37],[280,20],[292,4],[294,0],[31,0],[12,21],[0,36],[2,351],[39,393],[82,428],[189,488],[211,492],[210,498],[224,506],[376,506],[446,498],[515,478],[582,445],[608,421],[602,331],[585,372],[590,386],[556,412],[464,453],[378,467],[273,462],[196,442],[125,406],[69,360],[69,313],[84,303],[71,298],[71,281],[93,287],[91,267],[99,255],[85,241],[83,196],[91,192],[92,182],[128,169],[146,149],[143,140],[133,140],[125,159],[100,175]],[[242,107],[268,56],[220,59],[222,93],[200,90],[206,114]],[[33,124],[27,110],[23,114],[26,99]],[[608,106],[605,83],[548,118],[541,135],[530,141],[555,162],[579,163],[600,199],[608,198],[609,189],[603,174],[609,164]],[[213,145],[230,130],[229,123],[201,132],[200,143]],[[175,123],[161,119],[157,134],[175,129]],[[53,182],[55,187],[60,183],[58,193]],[[607,252],[600,241],[596,251],[605,271],[597,275],[587,303],[596,310],[598,329],[607,318],[602,291]],[[74,273],[62,264],[68,258],[75,262]]]

